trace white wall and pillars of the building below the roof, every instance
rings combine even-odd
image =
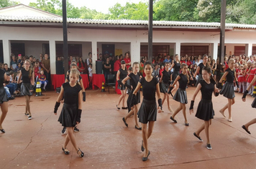
[[[0,40],[3,40],[4,56],[9,56],[9,41],[46,41],[52,44],[53,42],[63,41],[63,29],[61,28],[42,28],[42,27],[14,27],[14,26],[0,26]],[[93,53],[93,60],[96,59],[97,48],[101,53],[102,43],[114,43],[116,49],[123,49],[123,52],[130,51],[132,55],[132,62],[140,60],[140,44],[147,43],[147,34],[145,30],[114,30],[114,29],[68,29],[68,41],[78,42],[83,44],[83,56],[88,57],[88,52]],[[235,30],[226,32],[226,44],[255,44],[256,30]],[[91,42],[89,44],[88,42]],[[180,44],[217,44],[219,43],[219,32],[185,32],[185,31],[154,31],[153,44],[173,44],[175,52],[179,52]],[[93,44],[93,45],[92,45]],[[178,45],[176,45],[178,44]],[[40,52],[40,43],[31,44],[28,51],[37,56]],[[216,45],[214,45],[216,47]],[[35,48],[35,49],[34,49]],[[91,49],[90,49],[91,48]],[[234,47],[228,46],[227,52],[230,50],[234,52]],[[54,49],[51,48],[50,49]],[[209,49],[211,51],[211,49]],[[216,54],[217,49],[212,49],[212,53]],[[42,49],[40,50],[42,51]],[[27,51],[26,51],[27,53]],[[50,52],[51,57],[55,57],[54,52]],[[9,59],[9,58],[8,58]],[[9,62],[6,58],[6,61]],[[52,60],[53,61],[53,60]],[[55,67],[55,63],[51,61],[51,67]],[[93,61],[94,62],[94,61]],[[95,63],[95,62],[94,62]]]

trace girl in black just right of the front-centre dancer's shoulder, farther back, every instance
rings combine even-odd
[[[165,70],[162,72],[162,76],[160,79],[160,92],[163,92],[163,103],[165,102],[165,99],[166,99],[168,110],[170,112],[173,112],[170,108],[170,100],[168,95],[168,89],[170,86],[170,82],[172,81],[172,73],[170,72],[169,68],[170,68],[170,63],[165,62]]]

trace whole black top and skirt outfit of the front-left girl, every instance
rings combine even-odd
[[[63,127],[75,127],[78,114],[78,93],[82,90],[82,87],[79,84],[71,87],[69,82],[65,82],[63,83],[63,90],[64,104],[58,122]]]

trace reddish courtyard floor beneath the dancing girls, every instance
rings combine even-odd
[[[189,88],[190,103],[195,88]],[[157,114],[157,122],[149,140],[150,156],[142,162],[140,151],[142,134],[134,129],[132,118],[125,127],[122,117],[127,110],[116,110],[119,95],[100,90],[86,91],[83,103],[80,132],[76,132],[78,147],[85,156],[79,158],[72,145],[70,155],[61,150],[65,135],[57,122],[62,105],[55,116],[52,112],[58,94],[45,92],[45,96],[32,97],[32,120],[24,115],[24,97],[9,101],[9,112],[0,133],[0,168],[255,168],[256,125],[248,135],[242,125],[256,117],[250,107],[253,98],[242,102],[242,94],[236,93],[232,106],[233,122],[228,122],[219,110],[227,103],[222,95],[214,97],[215,117],[210,127],[212,150],[206,149],[206,136],[201,132],[203,143],[193,132],[203,123],[194,115],[187,117],[189,127],[184,125],[183,115],[176,116],[178,123],[170,120],[166,102],[165,112]],[[200,95],[195,101],[195,110]],[[178,102],[170,99],[175,110]],[[226,112],[227,115],[227,112]]]

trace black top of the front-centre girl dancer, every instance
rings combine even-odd
[[[145,100],[155,100],[156,85],[158,83],[157,78],[153,77],[150,82],[147,82],[145,77],[140,79],[142,84],[142,94]]]

